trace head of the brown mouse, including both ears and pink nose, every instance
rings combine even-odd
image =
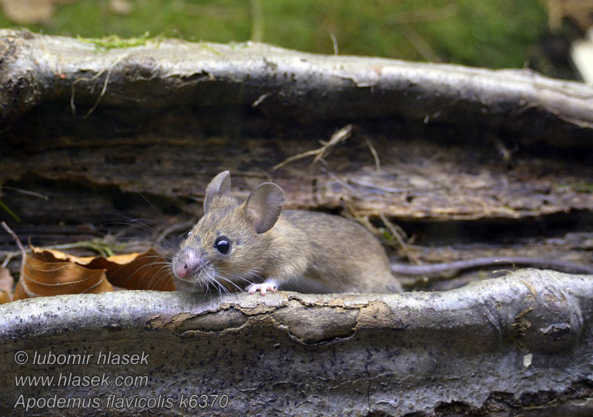
[[[204,215],[174,256],[175,276],[194,285],[243,288],[266,263],[271,244],[266,232],[278,220],[283,204],[284,191],[270,182],[239,203],[231,196],[229,171],[220,172],[206,187]]]

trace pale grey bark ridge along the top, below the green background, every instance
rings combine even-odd
[[[149,40],[98,50],[72,38],[0,31],[0,110],[76,106],[252,106],[282,119],[399,115],[452,123],[593,126],[593,89],[528,70],[321,56],[267,44]],[[74,94],[75,93],[75,94]],[[314,106],[311,104],[314,103]]]

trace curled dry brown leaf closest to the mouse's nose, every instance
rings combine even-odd
[[[154,250],[143,253],[79,257],[58,250],[32,247],[33,253],[45,261],[70,261],[90,269],[105,270],[114,286],[128,290],[174,291],[170,265]]]

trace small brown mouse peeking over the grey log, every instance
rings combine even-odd
[[[204,215],[172,262],[180,286],[300,293],[398,293],[381,243],[336,215],[282,210],[275,183],[245,202],[231,196],[229,171],[206,187]],[[263,282],[262,282],[263,281]]]

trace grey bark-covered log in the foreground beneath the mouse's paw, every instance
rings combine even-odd
[[[159,415],[585,416],[593,413],[593,276],[520,270],[441,293],[227,295],[124,291],[0,306],[3,415],[104,416],[116,398],[172,398]],[[24,351],[29,361],[15,363]],[[37,352],[94,354],[40,366]],[[101,352],[147,364],[97,365]],[[27,386],[15,375],[148,376],[146,386]],[[100,409],[14,408],[99,398]],[[181,396],[228,395],[224,409]],[[164,401],[164,400],[163,400]],[[218,405],[218,403],[217,403]],[[161,406],[162,407],[162,406]],[[191,408],[191,407],[190,407]],[[137,416],[142,407],[108,410]]]

